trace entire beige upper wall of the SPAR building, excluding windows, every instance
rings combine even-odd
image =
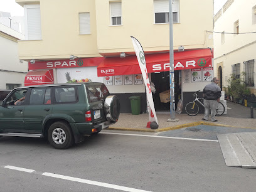
[[[19,41],[23,60],[93,57],[134,51],[130,36],[144,51],[169,50],[169,24],[154,24],[154,1],[122,1],[122,26],[110,26],[109,0],[16,0],[40,3],[42,40]],[[136,4],[135,4],[136,2]],[[213,47],[212,0],[179,0],[180,23],[174,23],[174,49]],[[91,35],[79,35],[78,13],[90,12]]]

